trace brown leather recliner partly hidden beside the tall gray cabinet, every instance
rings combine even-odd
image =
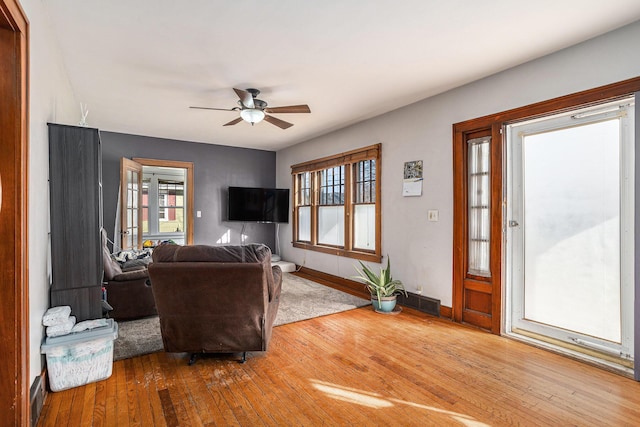
[[[153,291],[146,267],[122,270],[107,247],[107,232],[102,230],[102,261],[107,302],[113,310],[109,317],[131,320],[157,314]]]

